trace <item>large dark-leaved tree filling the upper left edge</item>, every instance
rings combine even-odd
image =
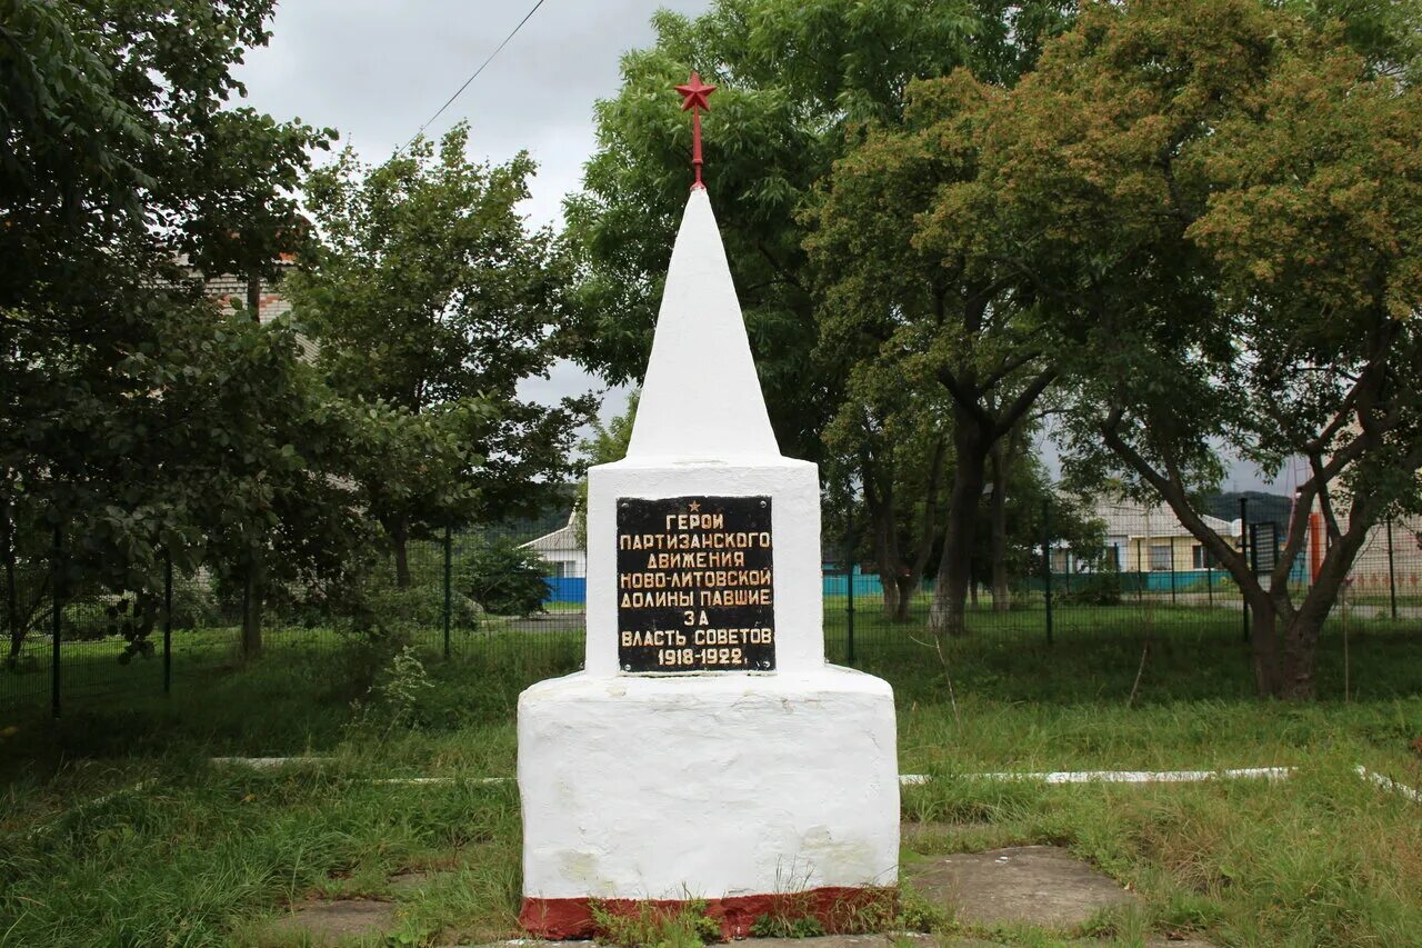
[[[142,591],[164,554],[192,565],[203,525],[240,520],[252,500],[206,487],[250,473],[276,433],[253,413],[208,414],[215,394],[252,381],[237,366],[292,367],[245,363],[243,347],[274,353],[282,337],[233,332],[173,262],[269,263],[301,233],[289,191],[331,132],[228,108],[242,91],[230,67],[266,41],[270,0],[0,11],[6,567],[33,559],[27,531],[60,524],[68,588]]]

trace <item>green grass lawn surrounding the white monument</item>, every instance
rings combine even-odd
[[[1358,623],[1345,702],[1342,639],[1330,629],[1322,699],[1303,706],[1253,697],[1237,612],[1153,609],[1143,670],[1138,609],[1062,609],[1051,646],[1039,618],[975,616],[946,663],[913,641],[916,626],[890,626],[872,608],[856,621],[856,665],[896,688],[900,769],[933,777],[904,791],[904,820],[921,824],[904,863],[1058,843],[1142,897],[1089,931],[966,934],[1422,945],[1422,806],[1354,773],[1364,764],[1422,784],[1409,746],[1422,736],[1422,633]],[[410,703],[367,695],[387,680],[380,649],[300,642],[245,669],[199,662],[195,645],[168,699],[95,696],[57,729],[43,706],[0,720],[0,944],[280,944],[264,924],[337,894],[391,900],[394,944],[513,935],[518,794],[479,779],[513,774],[516,696],[574,668],[579,636],[529,648],[509,633],[449,662],[429,653],[432,686]],[[842,628],[829,648],[843,658]],[[353,710],[357,699],[374,707]],[[384,726],[391,713],[417,726]],[[208,763],[225,754],[331,760],[267,771]],[[1152,786],[971,776],[1243,766],[1297,771]],[[452,780],[380,783],[407,776]],[[425,881],[401,884],[412,870]]]

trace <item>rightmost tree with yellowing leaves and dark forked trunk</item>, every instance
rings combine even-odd
[[[1044,286],[1074,399],[1069,470],[1158,494],[1254,615],[1261,695],[1314,693],[1318,635],[1369,525],[1418,505],[1422,101],[1250,0],[1096,6],[993,110],[980,179]],[[953,192],[946,232],[977,221]],[[1290,589],[1200,517],[1212,443],[1301,455],[1332,538]],[[1341,508],[1341,510],[1340,510]]]

